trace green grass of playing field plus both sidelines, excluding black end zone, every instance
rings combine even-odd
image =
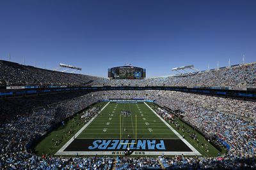
[[[103,108],[106,104],[106,102],[102,102],[97,103],[94,106]],[[154,103],[147,104],[154,110],[158,107]],[[125,139],[129,134],[132,139],[179,139],[174,132],[169,129],[164,122],[150,110],[150,108],[148,108],[148,106],[144,103],[109,103],[108,106],[106,106],[106,108],[104,108],[104,110],[102,110],[102,112],[86,127],[86,129],[77,136],[77,138]],[[131,116],[120,116],[121,111],[124,110],[131,111]],[[83,113],[77,114],[76,117],[70,119],[65,125],[60,126],[47,134],[47,136],[35,146],[35,152],[38,155],[42,155],[42,153],[54,155],[54,153],[58,152],[58,150],[60,150],[60,148],[86,124],[81,120],[81,115],[83,115]],[[180,125],[184,124],[179,118],[175,119]],[[206,152],[200,145],[197,146],[195,141],[189,139],[189,134],[187,132],[182,134],[182,132],[179,131],[179,129],[176,129],[173,124],[170,125],[173,129],[179,132],[179,134],[184,135],[185,139],[202,155],[211,157],[218,154],[218,150],[207,142],[201,134],[196,132],[200,144],[206,143],[209,145],[209,152]],[[190,131],[193,131],[188,125],[184,124],[184,126],[186,126],[187,129],[190,129]],[[67,134],[67,131],[70,129],[72,129],[71,134]],[[52,139],[54,139],[54,141],[58,140],[58,145],[54,145]],[[221,153],[224,152],[225,150]]]

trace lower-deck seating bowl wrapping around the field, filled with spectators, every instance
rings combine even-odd
[[[185,95],[185,96],[184,96]],[[182,113],[184,116],[184,120],[189,122],[192,125],[195,125],[196,128],[198,128],[200,131],[205,132],[206,134],[217,134],[222,140],[225,140],[228,144],[230,144],[231,149],[228,153],[230,157],[235,158],[241,158],[241,157],[252,157],[253,152],[255,153],[255,122],[248,122],[247,120],[243,120],[243,118],[234,117],[234,115],[230,114],[223,114],[218,112],[217,110],[214,110],[214,108],[210,107],[209,109],[201,108],[200,104],[197,103],[199,106],[195,106],[195,104],[192,103],[193,100],[198,98],[198,101],[200,101],[199,95],[193,95],[191,97],[186,96],[186,94],[183,94],[181,92],[165,92],[165,91],[154,91],[154,90],[147,90],[147,91],[109,91],[109,92],[93,92],[92,94],[86,94],[82,97],[77,97],[74,99],[70,99],[67,101],[63,101],[56,104],[51,104],[51,106],[47,106],[43,109],[39,109],[34,111],[34,113],[31,113],[30,115],[26,116],[17,116],[17,118],[14,118],[10,122],[6,122],[5,124],[1,125],[1,136],[3,136],[4,140],[1,141],[1,157],[2,159],[2,166],[5,167],[10,166],[10,162],[15,162],[15,160],[10,161],[10,155],[16,154],[17,157],[31,157],[31,159],[40,159],[40,157],[36,157],[35,155],[26,155],[25,149],[28,145],[28,143],[36,138],[36,135],[43,135],[47,129],[49,129],[52,125],[56,124],[57,122],[60,122],[66,117],[69,117],[70,115],[73,115],[77,111],[85,108],[86,106],[90,106],[90,104],[95,103],[102,99],[102,97],[120,97],[124,99],[130,99],[131,96],[137,96],[137,97],[148,97],[148,99],[156,99],[157,104],[160,106],[166,106],[168,108],[172,108],[172,106],[175,106],[175,110],[179,108],[180,110],[183,110]],[[182,101],[181,98],[186,97],[188,101]],[[180,99],[180,101],[179,101]],[[203,98],[204,99],[204,98]],[[218,98],[211,98],[213,101],[218,100]],[[207,99],[210,100],[210,99]],[[207,101],[206,100],[206,101]],[[227,99],[228,100],[228,99]],[[189,103],[190,102],[190,103]],[[207,101],[211,103],[210,101]],[[195,102],[196,103],[196,102]],[[244,102],[246,103],[246,102]],[[246,109],[250,109],[250,104],[243,104],[241,102],[241,106],[248,106]],[[237,107],[237,110],[239,107]],[[230,110],[232,111],[232,110]],[[255,110],[254,110],[255,111]],[[239,112],[238,112],[239,113]],[[254,112],[255,113],[255,112]],[[93,113],[95,114],[95,113]],[[93,114],[91,117],[93,117]],[[160,114],[160,113],[159,113]],[[57,116],[58,115],[58,116]],[[161,115],[163,116],[163,115]],[[89,119],[90,120],[90,119]],[[209,123],[211,122],[211,124]],[[251,156],[250,156],[251,155]],[[226,155],[227,157],[227,155]],[[50,158],[49,158],[50,159]],[[61,164],[58,162],[58,159],[54,160],[53,158],[50,159],[51,161],[54,161],[54,166],[56,164],[60,164],[60,166],[64,166],[63,163]],[[125,162],[124,158],[116,159],[116,169],[129,169],[129,168],[137,168],[140,169],[142,167],[155,167],[158,168],[159,164],[157,163],[156,159],[147,159],[147,161],[141,161],[140,159],[131,159],[129,161],[136,162],[136,166],[130,167]],[[166,161],[166,158],[163,158],[164,161]],[[163,162],[162,160],[162,162]],[[167,164],[167,166],[175,166],[178,167],[187,167],[187,166],[202,166],[198,165],[198,162],[211,162],[211,166],[216,166],[216,162],[212,163],[212,159],[188,159],[186,161],[184,160],[175,160],[175,159],[167,159],[168,161],[172,162]],[[43,162],[48,161],[47,159],[44,159]],[[73,160],[75,161],[75,160]],[[85,160],[79,160],[84,164]],[[97,164],[95,166],[99,166],[100,160],[98,160]],[[108,161],[110,161],[108,159]],[[111,160],[112,161],[112,160]],[[196,164],[186,164],[186,162],[192,161],[197,162]],[[217,161],[217,160],[215,160]],[[148,162],[148,163],[146,163]],[[176,163],[173,163],[176,162]],[[182,162],[182,165],[180,165],[180,162]],[[218,160],[220,162],[220,160]],[[226,161],[225,161],[226,162]],[[223,166],[226,164],[225,162],[221,162]],[[228,162],[228,161],[227,161]],[[24,165],[18,164],[17,165],[12,164],[13,167],[23,167]],[[50,162],[51,163],[51,162]],[[24,163],[26,164],[26,163]],[[49,164],[49,162],[45,162],[41,164],[36,164],[34,166],[42,166],[42,164]],[[150,164],[150,166],[148,166]],[[177,165],[178,164],[178,165]],[[203,165],[204,165],[203,164]],[[231,161],[229,160],[228,164],[231,164]],[[65,164],[66,165],[66,164]],[[101,164],[100,164],[101,165]],[[110,163],[108,164],[108,166]],[[166,166],[166,163],[164,163]],[[67,165],[66,165],[67,166]],[[70,165],[71,166],[71,165]],[[43,166],[44,167],[44,166]]]

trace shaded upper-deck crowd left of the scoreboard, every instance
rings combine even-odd
[[[108,79],[97,76],[62,73],[0,60],[0,87],[26,85],[86,86],[103,85],[105,81],[108,83]]]

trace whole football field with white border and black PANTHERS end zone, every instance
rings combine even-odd
[[[200,155],[147,103],[109,102],[56,155]]]

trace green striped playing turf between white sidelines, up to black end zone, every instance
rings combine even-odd
[[[131,111],[131,116],[120,115]],[[179,139],[144,103],[109,103],[77,138]]]

